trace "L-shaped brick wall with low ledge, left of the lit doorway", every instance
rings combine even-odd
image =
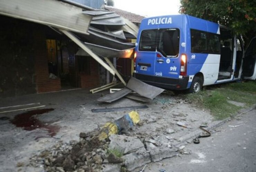
[[[37,93],[61,90],[60,78],[49,78],[46,37],[40,27],[34,31],[34,49]]]

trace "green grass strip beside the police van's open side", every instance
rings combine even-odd
[[[230,117],[243,108],[229,103],[228,100],[244,103],[245,107],[250,107],[256,103],[255,81],[229,83],[213,89],[212,87],[198,94],[186,95],[186,99],[195,106],[209,109],[217,120]]]

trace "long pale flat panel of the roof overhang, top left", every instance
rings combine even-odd
[[[0,0],[0,14],[89,34],[92,17],[83,8],[58,0]]]

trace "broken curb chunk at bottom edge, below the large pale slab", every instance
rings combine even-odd
[[[142,153],[142,151],[144,153]],[[138,152],[124,155],[122,158],[125,160],[125,166],[127,166],[128,171],[133,171],[134,169],[151,162],[150,154],[146,152],[145,148],[141,148]]]

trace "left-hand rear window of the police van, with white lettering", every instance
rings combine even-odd
[[[156,51],[157,29],[141,32],[139,51]]]

